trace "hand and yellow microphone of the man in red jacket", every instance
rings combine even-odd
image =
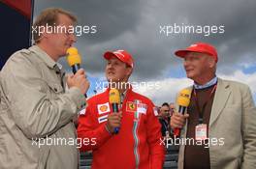
[[[117,134],[121,126],[122,114],[118,111],[118,104],[120,103],[120,95],[117,89],[110,90],[110,103],[112,106],[112,113],[108,116],[107,127],[112,133]]]

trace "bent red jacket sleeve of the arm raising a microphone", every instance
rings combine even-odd
[[[93,102],[89,99],[84,114],[80,114],[78,138],[81,140],[80,151],[91,151],[100,148],[111,137],[105,123],[98,125],[98,119],[93,111]],[[83,140],[89,140],[89,144],[84,144]]]

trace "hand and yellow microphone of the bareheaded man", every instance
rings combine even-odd
[[[81,58],[79,51],[76,47],[70,47],[67,50],[67,61],[74,74],[68,75],[67,84],[68,87],[78,87],[80,92],[84,94],[86,98],[86,92],[89,89],[90,83],[86,79],[85,71],[80,69]]]

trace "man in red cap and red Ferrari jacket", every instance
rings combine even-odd
[[[106,77],[108,89],[88,99],[80,114],[78,137],[94,139],[96,144],[83,144],[80,151],[93,152],[92,168],[160,169],[164,147],[160,144],[161,127],[150,99],[135,93],[128,83],[134,68],[132,56],[125,50],[108,51]],[[120,93],[118,113],[112,113],[111,88]],[[118,133],[114,128],[118,127]]]

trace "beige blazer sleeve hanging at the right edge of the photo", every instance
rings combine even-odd
[[[256,168],[256,107],[254,105],[251,92],[246,86],[242,95],[242,137],[243,156],[241,162],[242,169]]]

